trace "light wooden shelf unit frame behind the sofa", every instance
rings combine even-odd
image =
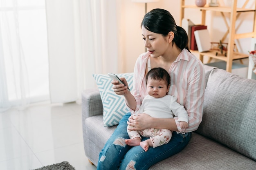
[[[255,2],[254,9],[247,9],[245,7],[246,7],[248,2],[249,2],[249,0],[246,0],[246,2],[243,4],[242,8],[237,8],[237,0],[232,0],[231,7],[209,7],[208,5],[206,5],[204,7],[197,7],[195,5],[185,5],[185,0],[181,0],[180,26],[181,26],[181,23],[182,23],[182,19],[184,18],[185,9],[198,9],[198,10],[200,10],[202,12],[202,18],[201,18],[201,24],[202,25],[205,25],[206,11],[220,12],[222,14],[222,18],[224,19],[227,28],[229,28],[229,29],[227,29],[227,32],[223,36],[222,42],[223,42],[223,40],[225,40],[227,35],[229,35],[227,49],[234,49],[235,39],[256,38],[256,21],[255,21],[256,20],[256,11],[255,11],[256,2]],[[236,20],[239,17],[240,13],[242,13],[242,12],[254,12],[253,32],[239,33],[239,34],[237,34],[235,32]],[[228,24],[228,22],[225,18],[225,15],[223,13],[230,13],[230,24]],[[191,50],[191,53],[199,53],[199,52]],[[200,58],[201,61],[203,61],[203,57],[204,57],[204,55],[206,55],[206,56],[209,56],[211,58],[216,58],[216,59],[219,59],[219,60],[223,60],[223,61],[227,62],[226,71],[228,71],[228,72],[231,72],[231,70],[232,70],[232,61],[233,60],[243,59],[243,58],[247,58],[249,56],[249,54],[238,53],[238,52],[234,52],[232,50],[227,51],[227,57],[225,57],[224,55],[220,55],[220,54],[218,54],[218,56],[216,56],[215,54],[216,54],[216,51],[213,51],[213,50],[209,51],[209,52],[201,52],[201,53],[199,53],[199,58]]]

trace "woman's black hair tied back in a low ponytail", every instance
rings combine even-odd
[[[141,22],[141,28],[142,26],[148,31],[162,34],[164,37],[166,37],[170,31],[173,31],[173,42],[175,42],[181,50],[185,48],[189,51],[189,38],[186,31],[176,25],[173,16],[168,11],[164,9],[153,9],[149,11]]]

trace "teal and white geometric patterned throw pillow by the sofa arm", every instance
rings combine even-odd
[[[118,77],[126,78],[130,91],[132,90],[133,73],[116,74]],[[117,95],[113,91],[112,79],[108,75],[94,74],[93,75],[99,93],[101,95],[103,105],[103,123],[104,126],[113,126],[119,124],[121,118],[128,112],[124,101],[124,96]]]

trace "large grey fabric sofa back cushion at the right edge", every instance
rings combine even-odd
[[[256,160],[256,80],[212,69],[204,96],[196,132]]]

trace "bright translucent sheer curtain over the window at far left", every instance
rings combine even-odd
[[[0,111],[23,109],[49,96],[42,23],[44,0],[0,0]]]

